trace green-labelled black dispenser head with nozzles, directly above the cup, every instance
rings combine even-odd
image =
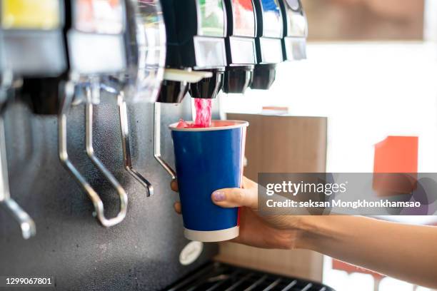
[[[161,5],[167,34],[166,68],[211,71],[211,78],[189,88],[194,98],[216,98],[227,65],[223,0],[161,0]],[[186,90],[184,82],[164,81],[158,102],[178,103]]]

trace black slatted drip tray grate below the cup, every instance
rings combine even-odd
[[[334,291],[308,280],[210,262],[166,291]]]

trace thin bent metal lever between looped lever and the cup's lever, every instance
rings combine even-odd
[[[120,128],[121,128],[121,144],[123,146],[124,168],[147,190],[147,197],[154,195],[154,187],[149,181],[144,178],[137,170],[132,167],[131,146],[129,144],[129,118],[127,113],[126,101],[124,101],[124,93],[120,92],[117,96],[117,104],[119,106]]]

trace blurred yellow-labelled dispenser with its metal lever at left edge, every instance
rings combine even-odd
[[[10,197],[3,116],[11,95],[26,91],[23,83],[27,80],[51,82],[64,72],[63,9],[58,0],[1,1],[0,204],[19,222],[23,238],[35,235],[36,228],[34,220]],[[42,99],[40,103],[46,106],[49,102]]]

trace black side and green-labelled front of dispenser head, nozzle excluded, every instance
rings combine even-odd
[[[168,66],[194,69],[226,66],[223,0],[163,0],[161,3],[167,26]],[[184,29],[178,29],[181,27]]]

